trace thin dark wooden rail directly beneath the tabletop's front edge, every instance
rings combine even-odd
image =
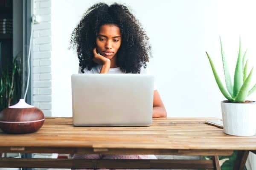
[[[5,153],[69,153],[69,154],[154,154],[184,156],[230,156],[233,150],[197,150],[197,149],[123,149],[123,148],[86,148],[86,147],[0,147]]]

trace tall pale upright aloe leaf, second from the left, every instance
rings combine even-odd
[[[220,37],[220,42],[221,42],[221,37]],[[222,47],[222,42],[221,42],[221,57],[222,57],[222,64],[224,69],[227,91],[231,96],[233,96],[233,84],[230,78],[230,73],[228,71],[227,62],[226,62],[226,58],[225,58],[223,47]]]

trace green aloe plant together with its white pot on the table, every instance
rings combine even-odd
[[[212,59],[207,52],[206,54],[218,88],[227,99],[221,102],[224,133],[235,136],[253,136],[256,134],[256,102],[246,100],[247,96],[256,90],[256,84],[250,87],[250,82],[253,77],[253,68],[250,70],[250,73],[247,74],[248,60],[245,62],[246,51],[242,56],[241,40],[239,39],[239,54],[236,62],[234,81],[232,82],[227,67],[227,61],[224,56],[221,38],[220,43],[227,90],[224,88],[217,74]]]

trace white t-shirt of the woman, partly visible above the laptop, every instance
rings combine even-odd
[[[101,68],[102,68],[102,65],[96,65],[90,71],[87,68],[84,68],[84,73],[85,74],[94,74],[94,73],[99,74]],[[81,72],[81,67],[79,67],[78,73],[82,73]],[[119,73],[123,74],[124,72],[121,71],[121,69],[119,67],[117,67],[117,68],[110,68],[108,73],[110,73],[110,74],[119,74]],[[151,74],[151,73],[148,70],[148,68],[144,68],[144,66],[142,66],[140,68],[140,74]],[[154,82],[154,90],[157,90],[157,86],[156,86],[155,82]]]

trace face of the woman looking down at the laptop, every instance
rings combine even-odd
[[[120,29],[114,24],[105,24],[99,28],[99,33],[96,37],[96,47],[99,54],[113,59],[121,46],[122,37]]]

